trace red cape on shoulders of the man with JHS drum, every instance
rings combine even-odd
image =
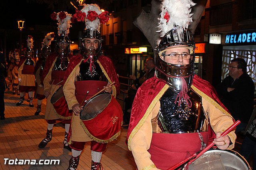
[[[66,70],[65,75],[64,75],[63,85],[67,81],[70,73],[74,70],[76,65],[78,65],[83,58],[84,57],[82,55],[75,55],[74,57],[72,57],[72,59],[70,59],[70,62],[68,63],[68,69]],[[114,86],[116,87],[116,95],[118,95],[119,92],[120,92],[120,83],[119,83],[118,75],[116,73],[116,70],[114,68],[114,64],[113,64],[112,60],[109,57],[106,57],[104,55],[101,55],[98,58],[98,60],[100,61],[100,64],[102,65],[102,67],[106,71],[110,80],[112,82],[113,81],[116,82],[114,84]]]

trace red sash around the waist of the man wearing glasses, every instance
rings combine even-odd
[[[200,132],[208,143],[208,132]],[[199,152],[201,140],[198,133],[153,133],[150,149],[151,160],[157,168],[166,170],[192,154]]]

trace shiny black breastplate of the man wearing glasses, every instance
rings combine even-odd
[[[177,93],[170,88],[160,98],[160,110],[158,113],[158,126],[162,132],[167,133],[188,133],[207,131],[202,130],[206,119],[202,107],[202,98],[191,88],[188,96],[192,102],[192,107],[188,107],[186,101],[182,98],[180,106],[178,101],[175,104]],[[204,126],[208,127],[208,126]]]

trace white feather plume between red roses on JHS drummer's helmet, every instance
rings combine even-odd
[[[100,19],[96,17],[95,20],[90,21],[87,19],[88,12],[95,11],[98,15],[102,13],[100,7],[97,4],[84,4],[84,8],[82,8],[81,12],[86,14],[86,18],[84,18],[86,29],[93,28],[94,30],[100,31]]]

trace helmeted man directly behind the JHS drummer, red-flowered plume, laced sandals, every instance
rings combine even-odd
[[[70,120],[60,119],[56,115],[52,103],[50,102],[54,92],[61,86],[68,62],[72,57],[70,53],[70,39],[68,38],[69,28],[71,27],[72,15],[67,12],[54,12],[51,15],[53,20],[58,21],[58,37],[55,39],[56,49],[55,52],[46,58],[44,71],[41,82],[44,85],[44,95],[47,97],[46,109],[44,119],[47,122],[46,137],[39,143],[39,148],[44,148],[48,142],[52,140],[52,128],[56,120],[62,121],[65,124],[65,137],[63,141],[63,148],[71,150],[68,146],[67,136],[70,125]]]

